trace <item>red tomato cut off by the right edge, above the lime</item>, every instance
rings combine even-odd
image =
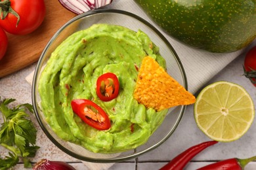
[[[251,48],[245,55],[244,75],[249,78],[251,83],[256,87],[256,46]]]

